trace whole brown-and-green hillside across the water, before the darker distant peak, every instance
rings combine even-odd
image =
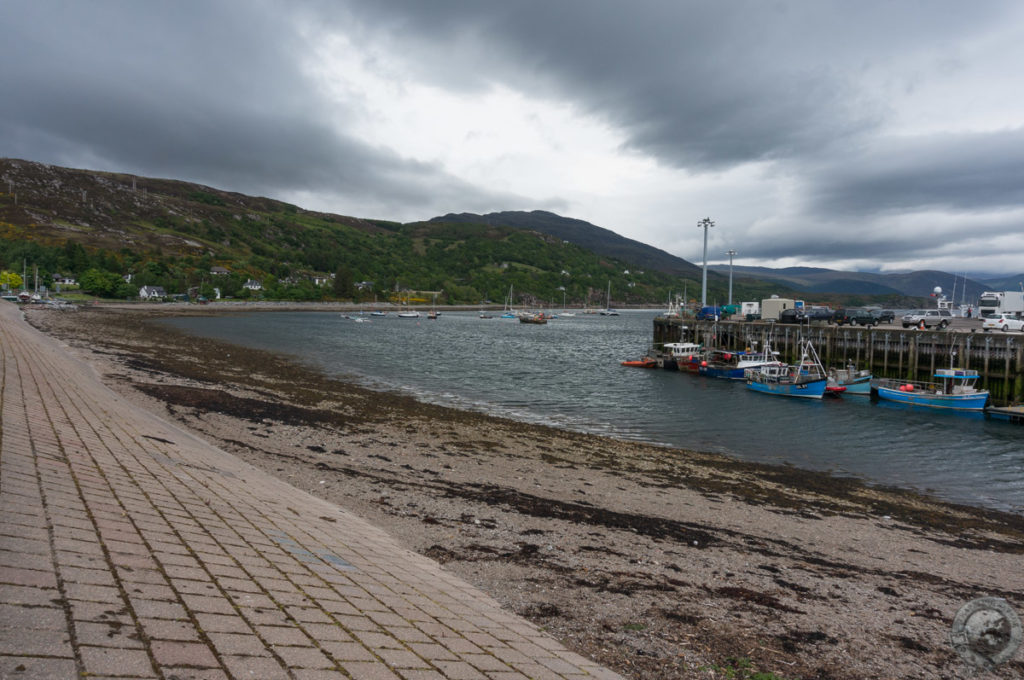
[[[399,224],[12,159],[0,160],[0,267],[28,270],[30,279],[38,267],[42,282],[60,274],[116,298],[160,286],[168,295],[212,297],[216,288],[228,297],[293,300],[384,301],[396,291],[420,291],[413,297],[426,299],[436,291],[441,303],[477,304],[502,301],[511,286],[519,303],[561,305],[564,289],[570,304],[603,305],[609,282],[620,306],[665,303],[684,289],[699,297],[699,273],[674,275],[598,255],[525,224]],[[709,298],[724,301],[727,283],[715,279]],[[261,290],[244,288],[250,280]],[[767,292],[737,280],[734,297]]]

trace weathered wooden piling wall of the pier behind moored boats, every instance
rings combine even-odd
[[[975,369],[989,390],[991,403],[1005,407],[1024,401],[1024,335],[982,333],[977,329],[926,330],[797,326],[770,322],[698,322],[654,318],[653,346],[696,342],[730,350],[755,349],[770,340],[787,362],[800,359],[801,342],[810,339],[822,362],[840,366],[854,362],[883,378],[931,380],[936,369]],[[893,366],[890,354],[895,354]]]

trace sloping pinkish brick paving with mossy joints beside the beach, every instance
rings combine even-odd
[[[7,302],[0,358],[0,678],[618,677],[117,396]]]

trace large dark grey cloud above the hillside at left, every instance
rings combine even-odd
[[[5,13],[0,155],[384,206],[495,195],[337,131],[272,3],[23,2]],[[354,102],[353,102],[354,103]],[[475,207],[475,206],[474,206]]]

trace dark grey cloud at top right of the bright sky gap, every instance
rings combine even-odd
[[[697,169],[799,157],[874,128],[886,102],[864,73],[993,20],[958,2],[351,5],[371,32],[400,35],[424,78],[570,96],[621,126],[629,146]]]

